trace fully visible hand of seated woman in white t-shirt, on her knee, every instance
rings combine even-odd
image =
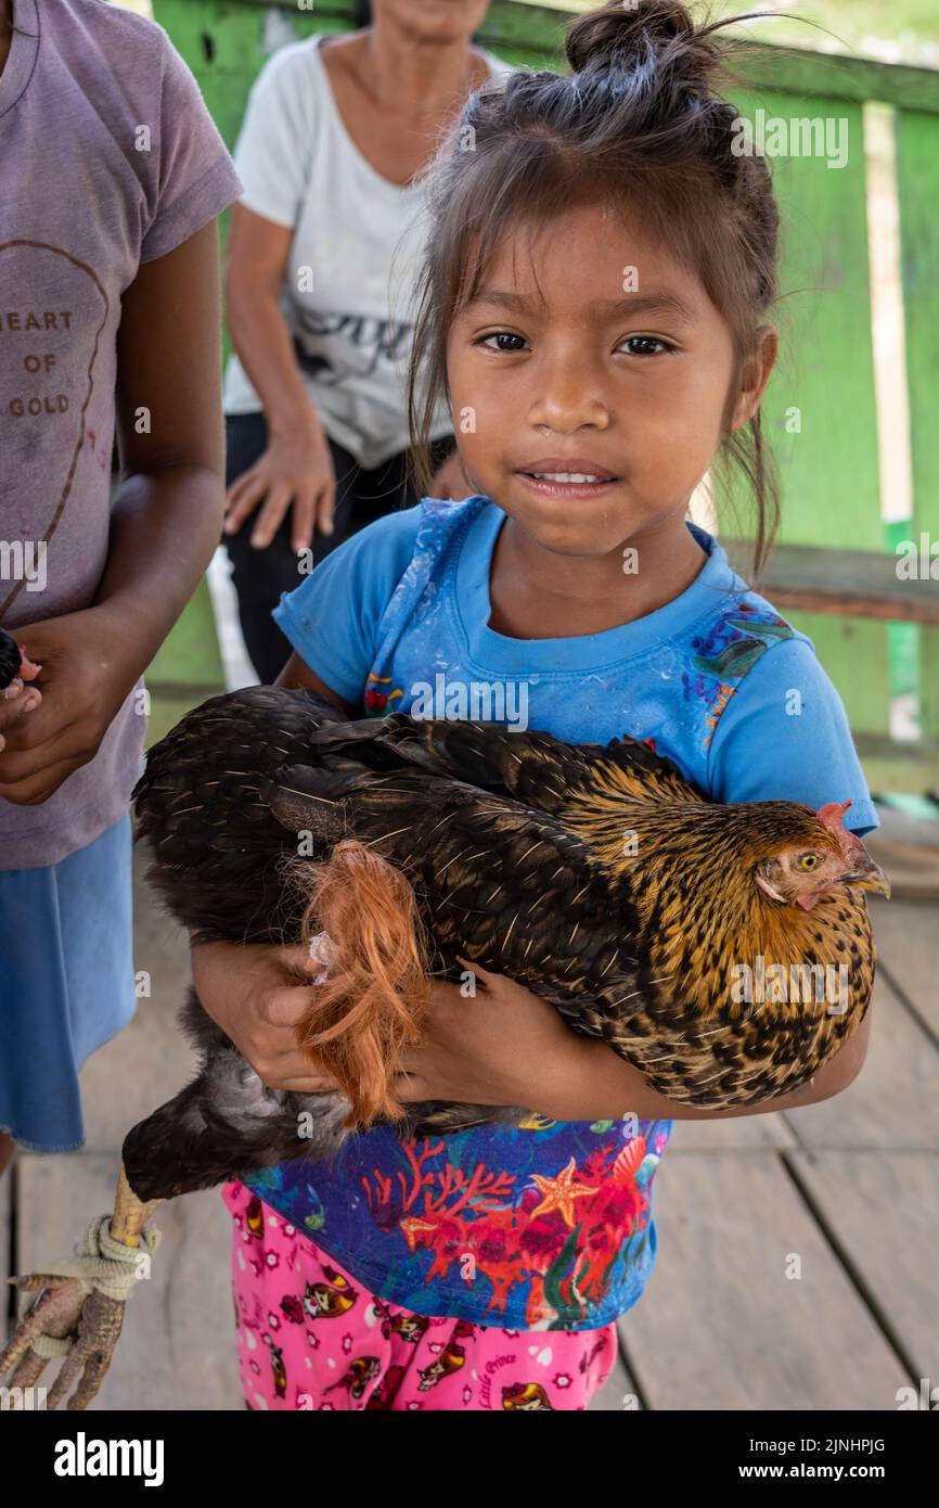
[[[232,483],[226,493],[225,532],[237,534],[255,508],[261,513],[252,531],[252,544],[267,549],[288,508],[291,549],[309,549],[314,528],[333,532],[336,511],[336,467],[323,425],[309,424],[271,434],[264,454]]]

